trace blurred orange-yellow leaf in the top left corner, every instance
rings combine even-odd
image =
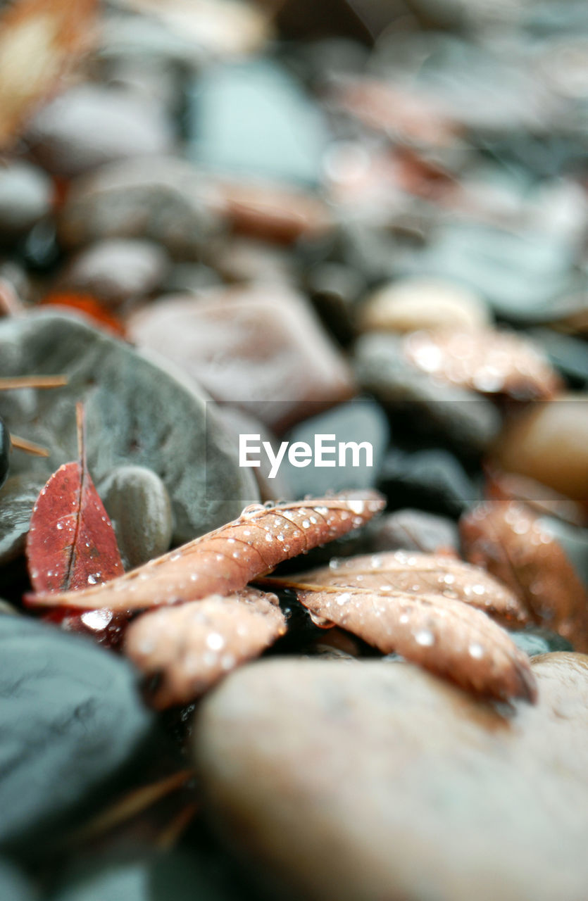
[[[96,0],[18,0],[0,19],[0,148],[87,50]]]

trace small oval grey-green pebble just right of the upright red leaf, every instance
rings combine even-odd
[[[161,478],[142,466],[120,466],[97,486],[115,527],[124,569],[134,569],[170,548],[170,496]]]

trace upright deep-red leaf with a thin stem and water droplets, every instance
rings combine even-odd
[[[26,556],[37,592],[76,591],[124,572],[115,531],[87,471],[78,406],[79,460],[53,473],[32,509]]]

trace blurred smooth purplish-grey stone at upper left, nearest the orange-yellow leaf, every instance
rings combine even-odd
[[[41,166],[64,177],[117,159],[166,153],[173,145],[170,123],[157,105],[91,84],[44,105],[26,136]]]

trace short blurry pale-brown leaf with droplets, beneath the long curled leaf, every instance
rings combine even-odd
[[[278,598],[244,588],[142,614],[127,630],[124,652],[147,676],[161,676],[152,701],[162,709],[187,704],[285,632]]]

